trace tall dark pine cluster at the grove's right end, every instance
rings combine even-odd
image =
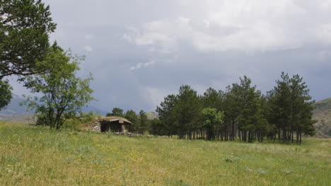
[[[313,124],[316,120],[312,119],[315,101],[310,99],[309,89],[302,77],[293,75],[290,78],[288,74],[281,73],[277,86],[268,92],[268,119],[276,127],[279,140],[294,142],[296,132],[296,142],[301,143],[302,133],[315,134]]]

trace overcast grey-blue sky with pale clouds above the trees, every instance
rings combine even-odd
[[[225,89],[248,75],[262,92],[298,73],[331,97],[330,0],[45,0],[64,49],[86,55],[92,105],[154,111],[191,85]],[[14,92],[26,92],[14,83]]]

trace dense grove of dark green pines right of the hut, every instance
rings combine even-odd
[[[203,95],[182,85],[157,107],[159,119],[151,120],[149,130],[189,140],[301,143],[302,135],[314,135],[315,101],[299,75],[281,73],[276,82],[266,95],[246,76],[225,91],[209,88]]]

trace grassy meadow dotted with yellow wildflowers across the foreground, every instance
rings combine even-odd
[[[331,140],[124,137],[0,123],[0,185],[331,185]]]

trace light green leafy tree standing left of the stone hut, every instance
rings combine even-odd
[[[46,61],[47,73],[29,77],[28,88],[41,97],[26,103],[35,109],[38,123],[59,129],[66,118],[74,116],[81,107],[93,100],[93,90],[89,87],[92,77],[85,80],[76,77],[79,61],[83,58],[64,52],[59,46],[52,46]]]

